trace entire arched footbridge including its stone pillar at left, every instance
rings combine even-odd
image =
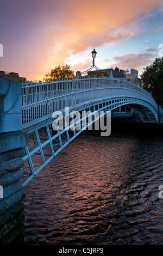
[[[132,109],[142,123],[163,122],[150,93],[111,74],[22,84],[0,76],[0,244],[22,230],[23,187],[86,127],[121,106]],[[67,109],[78,111],[79,120],[71,116],[67,124]],[[60,115],[62,129],[54,130]]]

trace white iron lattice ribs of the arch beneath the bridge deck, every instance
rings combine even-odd
[[[134,113],[139,116],[144,123],[156,123],[158,121],[156,109],[148,102],[134,99],[132,97],[111,97],[108,99],[98,99],[96,101],[83,102],[76,107],[70,107],[71,111],[104,111],[106,114],[112,109],[127,105],[133,109]],[[64,111],[63,116],[64,116]],[[22,179],[25,186],[46,164],[57,156],[57,154],[66,147],[74,138],[76,138],[83,130],[66,130],[53,131],[52,123],[54,119],[47,119],[24,129],[29,134],[29,145],[26,147],[26,156],[23,157],[25,168],[25,176]],[[92,120],[93,123],[93,120]],[[87,127],[89,124],[87,123]],[[35,166],[35,156],[40,155],[39,166]]]

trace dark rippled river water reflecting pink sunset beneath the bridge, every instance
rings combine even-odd
[[[83,132],[24,188],[24,244],[163,245],[162,145]]]

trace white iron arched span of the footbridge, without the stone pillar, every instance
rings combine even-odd
[[[142,123],[158,123],[158,105],[152,95],[136,83],[113,78],[111,74],[110,77],[80,76],[22,83],[22,126],[29,135],[29,145],[25,147],[23,157],[26,169],[23,186],[84,130],[80,126],[81,129],[72,131],[71,126],[63,125],[62,130],[54,132],[53,112],[59,111],[66,118],[67,107],[71,112],[78,111],[86,129],[96,118],[89,121],[88,115],[82,116],[83,111],[103,111],[106,115],[124,105],[130,107]]]

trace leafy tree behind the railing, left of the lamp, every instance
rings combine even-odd
[[[59,79],[59,78],[70,78],[73,77],[73,70],[70,69],[70,66],[66,64],[66,66],[55,66],[54,69],[51,70],[50,73],[45,75],[44,79]]]

